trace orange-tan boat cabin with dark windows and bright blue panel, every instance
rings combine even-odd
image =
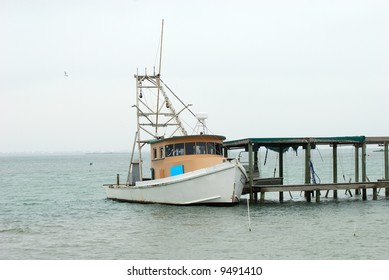
[[[161,179],[214,166],[225,161],[224,136],[190,135],[149,142],[151,179]]]

